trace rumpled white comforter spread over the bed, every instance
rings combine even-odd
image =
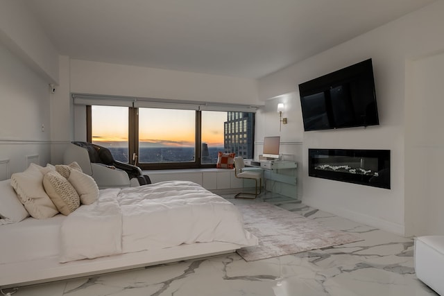
[[[253,236],[239,210],[219,195],[186,181],[103,189],[60,228],[60,262],[223,241],[241,247]]]

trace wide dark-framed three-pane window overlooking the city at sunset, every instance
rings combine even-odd
[[[87,110],[87,141],[142,169],[214,167],[219,151],[253,158],[252,112],[103,105]]]

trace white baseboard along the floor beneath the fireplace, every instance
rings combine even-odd
[[[303,204],[307,204],[309,207],[314,207],[315,209],[320,209],[321,211],[326,211],[332,213],[336,216],[341,216],[343,218],[350,219],[357,223],[362,223],[371,227],[382,229],[386,232],[391,232],[393,234],[398,234],[404,236],[405,226],[398,223],[393,223],[381,218],[375,218],[373,216],[368,216],[366,214],[357,213],[355,211],[349,211],[347,209],[341,209],[340,207],[334,207],[332,204],[325,204],[322,202],[313,202],[310,200],[302,200]]]

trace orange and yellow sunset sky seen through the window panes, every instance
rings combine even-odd
[[[227,112],[203,112],[202,141],[223,146]],[[110,120],[112,119],[112,120]],[[93,141],[128,141],[128,107],[92,106]],[[141,147],[194,146],[194,110],[139,108]]]

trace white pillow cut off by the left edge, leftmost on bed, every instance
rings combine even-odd
[[[0,225],[17,223],[28,216],[11,186],[11,180],[0,181]]]

